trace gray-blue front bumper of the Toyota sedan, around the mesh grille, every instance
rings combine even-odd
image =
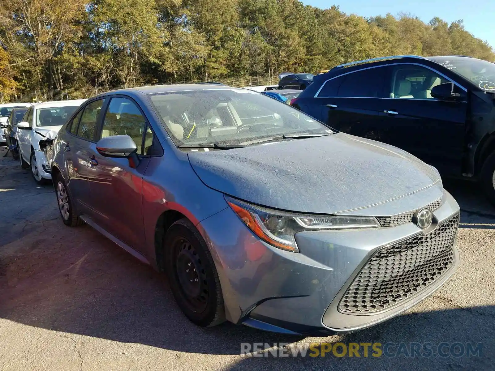
[[[459,213],[447,192],[434,211],[439,225]],[[438,289],[458,264],[407,299],[377,314],[345,314],[339,303],[370,257],[384,246],[421,233],[413,223],[348,231],[307,231],[296,235],[300,253],[260,241],[227,208],[198,225],[220,278],[227,319],[285,333],[327,335],[353,332],[394,317]],[[227,232],[228,231],[228,232]]]

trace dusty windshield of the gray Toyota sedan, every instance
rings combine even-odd
[[[176,145],[245,145],[283,135],[332,133],[295,108],[249,90],[159,93],[150,101]]]

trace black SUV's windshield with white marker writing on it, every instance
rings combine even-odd
[[[495,63],[467,57],[448,57],[435,61],[468,79],[480,89],[495,92]]]

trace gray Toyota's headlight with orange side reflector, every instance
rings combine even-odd
[[[299,252],[295,234],[301,231],[377,228],[372,217],[301,215],[272,210],[225,196],[241,221],[263,241],[283,250]]]

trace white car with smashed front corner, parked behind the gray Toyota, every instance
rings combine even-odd
[[[22,122],[17,124],[15,139],[21,167],[31,167],[38,184],[51,179],[44,146],[55,138],[62,125],[84,101],[75,99],[34,104],[28,107]]]

